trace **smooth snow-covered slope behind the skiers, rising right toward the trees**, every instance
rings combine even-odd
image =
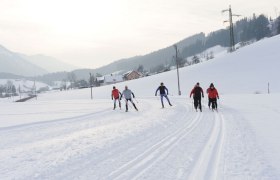
[[[221,94],[280,93],[280,36],[256,42],[233,53],[221,53],[217,58],[179,69],[182,96],[188,96],[196,82],[206,89],[212,82]],[[153,96],[155,88],[164,82],[170,95],[178,95],[177,71],[126,81],[116,86],[123,90],[125,85],[134,90],[136,96]],[[111,86],[94,88],[95,98],[108,98]],[[63,98],[87,99],[90,90],[69,91]],[[69,97],[68,97],[69,96]],[[48,97],[49,98],[49,97]]]

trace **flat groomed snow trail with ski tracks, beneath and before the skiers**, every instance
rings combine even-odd
[[[78,109],[92,108],[73,114],[77,103],[65,101],[63,118],[28,103],[36,116],[0,128],[0,179],[279,179],[237,110],[195,112],[184,98],[165,109],[157,98],[137,102],[140,111],[126,113],[84,101]]]

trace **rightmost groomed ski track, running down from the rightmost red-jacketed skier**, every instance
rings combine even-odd
[[[215,122],[212,133],[188,177],[190,180],[218,179],[225,128],[223,115],[221,113],[214,112],[214,116]]]

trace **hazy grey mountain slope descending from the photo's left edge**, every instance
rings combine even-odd
[[[0,72],[22,76],[37,76],[48,73],[47,70],[36,66],[0,45]]]

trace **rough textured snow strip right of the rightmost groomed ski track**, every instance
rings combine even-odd
[[[279,171],[258,144],[255,129],[240,110],[226,106],[226,141],[221,179],[279,180]],[[257,111],[257,110],[256,110]],[[222,172],[222,171],[221,171]]]

